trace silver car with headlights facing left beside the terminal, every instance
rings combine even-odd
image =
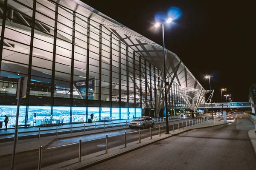
[[[129,123],[129,127],[142,127],[145,129],[146,127],[154,127],[155,121],[153,118],[149,116],[141,116],[135,118],[133,121]]]

